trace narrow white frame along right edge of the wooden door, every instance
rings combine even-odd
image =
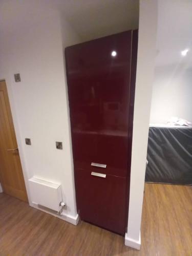
[[[27,173],[27,168],[26,168],[25,154],[24,154],[23,145],[22,145],[22,136],[20,134],[20,129],[19,129],[18,121],[17,121],[17,113],[16,113],[17,111],[16,111],[16,106],[15,106],[15,101],[14,101],[13,91],[12,91],[13,84],[11,83],[10,80],[9,80],[9,82],[7,82],[8,80],[9,79],[0,79],[0,82],[5,81],[5,83],[6,83],[9,104],[10,104],[11,114],[12,114],[12,119],[13,119],[13,126],[14,126],[14,130],[15,130],[17,146],[19,149],[20,163],[22,165],[22,171],[23,171],[23,175],[24,175],[24,182],[25,182],[25,186],[26,186],[28,202],[29,202],[29,205],[31,205],[32,202],[31,202],[29,186],[28,186],[29,175]],[[8,86],[8,84],[9,84],[9,86]]]

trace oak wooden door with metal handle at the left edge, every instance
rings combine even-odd
[[[28,201],[5,81],[0,81],[0,182],[4,193]]]

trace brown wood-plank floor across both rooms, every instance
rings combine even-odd
[[[65,221],[0,194],[0,255],[192,255],[192,188],[145,184],[141,250],[99,227]]]

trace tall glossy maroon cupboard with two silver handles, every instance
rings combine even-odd
[[[124,234],[129,207],[137,31],[66,48],[77,210]]]

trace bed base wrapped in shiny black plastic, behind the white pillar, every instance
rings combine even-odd
[[[145,182],[192,184],[192,126],[151,124]]]

